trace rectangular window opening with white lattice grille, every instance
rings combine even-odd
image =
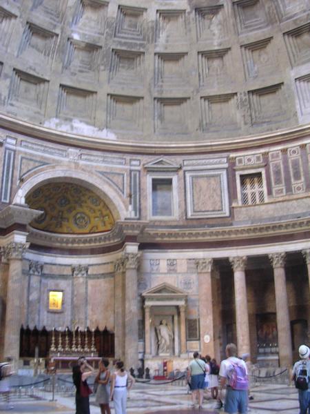
[[[262,173],[240,175],[242,204],[245,206],[265,202]]]

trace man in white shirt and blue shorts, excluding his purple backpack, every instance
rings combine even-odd
[[[248,389],[234,389],[229,385],[229,375],[234,365],[241,366],[242,372],[245,373],[244,383],[247,382],[247,366],[242,359],[237,357],[237,346],[235,344],[228,344],[225,349],[227,359],[223,359],[220,363],[220,389],[226,386],[226,397],[224,404],[224,411],[228,414],[246,414],[248,404]],[[247,387],[248,388],[248,387]]]

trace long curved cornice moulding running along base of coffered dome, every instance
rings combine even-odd
[[[6,128],[12,132],[27,135],[39,139],[45,139],[58,144],[67,144],[72,147],[87,147],[88,149],[99,149],[107,151],[135,152],[143,154],[161,154],[169,153],[201,153],[208,151],[225,151],[242,148],[251,148],[266,144],[276,144],[283,141],[289,141],[295,138],[307,137],[310,135],[310,125],[298,126],[287,130],[269,132],[260,135],[247,135],[236,137],[234,139],[211,139],[209,143],[203,141],[187,142],[184,144],[163,142],[128,142],[128,141],[110,141],[98,137],[87,137],[85,135],[71,134],[59,130],[52,130],[45,126],[32,124],[5,114],[0,114],[0,128]]]

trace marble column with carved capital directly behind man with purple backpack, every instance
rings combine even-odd
[[[229,257],[234,270],[234,290],[236,308],[236,330],[238,355],[250,353],[249,314],[247,311],[247,284],[245,282],[245,264],[247,257]]]

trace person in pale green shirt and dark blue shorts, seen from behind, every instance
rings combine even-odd
[[[205,388],[205,373],[209,371],[209,366],[199,358],[198,352],[194,352],[194,359],[189,363],[187,375],[190,377],[192,390],[192,407],[194,408],[198,400],[199,408],[203,407],[203,390]]]

